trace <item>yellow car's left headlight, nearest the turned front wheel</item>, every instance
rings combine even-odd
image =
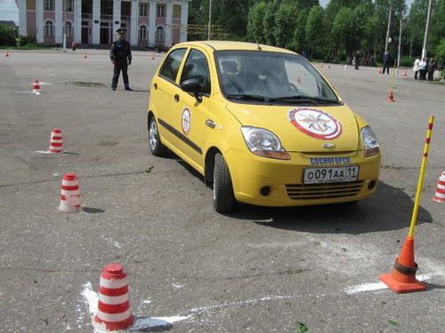
[[[278,137],[271,131],[243,126],[241,127],[247,147],[258,156],[290,160],[290,155],[281,147]]]

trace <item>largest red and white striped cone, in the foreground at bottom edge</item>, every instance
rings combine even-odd
[[[93,318],[93,326],[109,332],[128,329],[133,324],[124,268],[118,264],[110,264],[101,274],[98,309]]]

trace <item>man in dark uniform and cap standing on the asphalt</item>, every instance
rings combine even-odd
[[[115,91],[117,87],[117,81],[119,79],[120,71],[122,70],[122,77],[124,79],[125,91],[133,91],[128,83],[128,65],[132,64],[132,51],[130,49],[130,43],[125,41],[125,28],[118,28],[117,34],[119,39],[111,45],[111,51],[109,52],[109,58],[114,65],[113,80],[111,81],[111,90]],[[128,59],[128,62],[126,61]]]

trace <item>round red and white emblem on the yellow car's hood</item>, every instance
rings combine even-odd
[[[310,107],[295,107],[287,111],[287,119],[298,130],[315,139],[333,140],[343,131],[334,115]]]

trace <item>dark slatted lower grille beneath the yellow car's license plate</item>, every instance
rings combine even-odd
[[[349,183],[287,185],[287,195],[293,200],[344,198],[359,194],[363,181]]]

